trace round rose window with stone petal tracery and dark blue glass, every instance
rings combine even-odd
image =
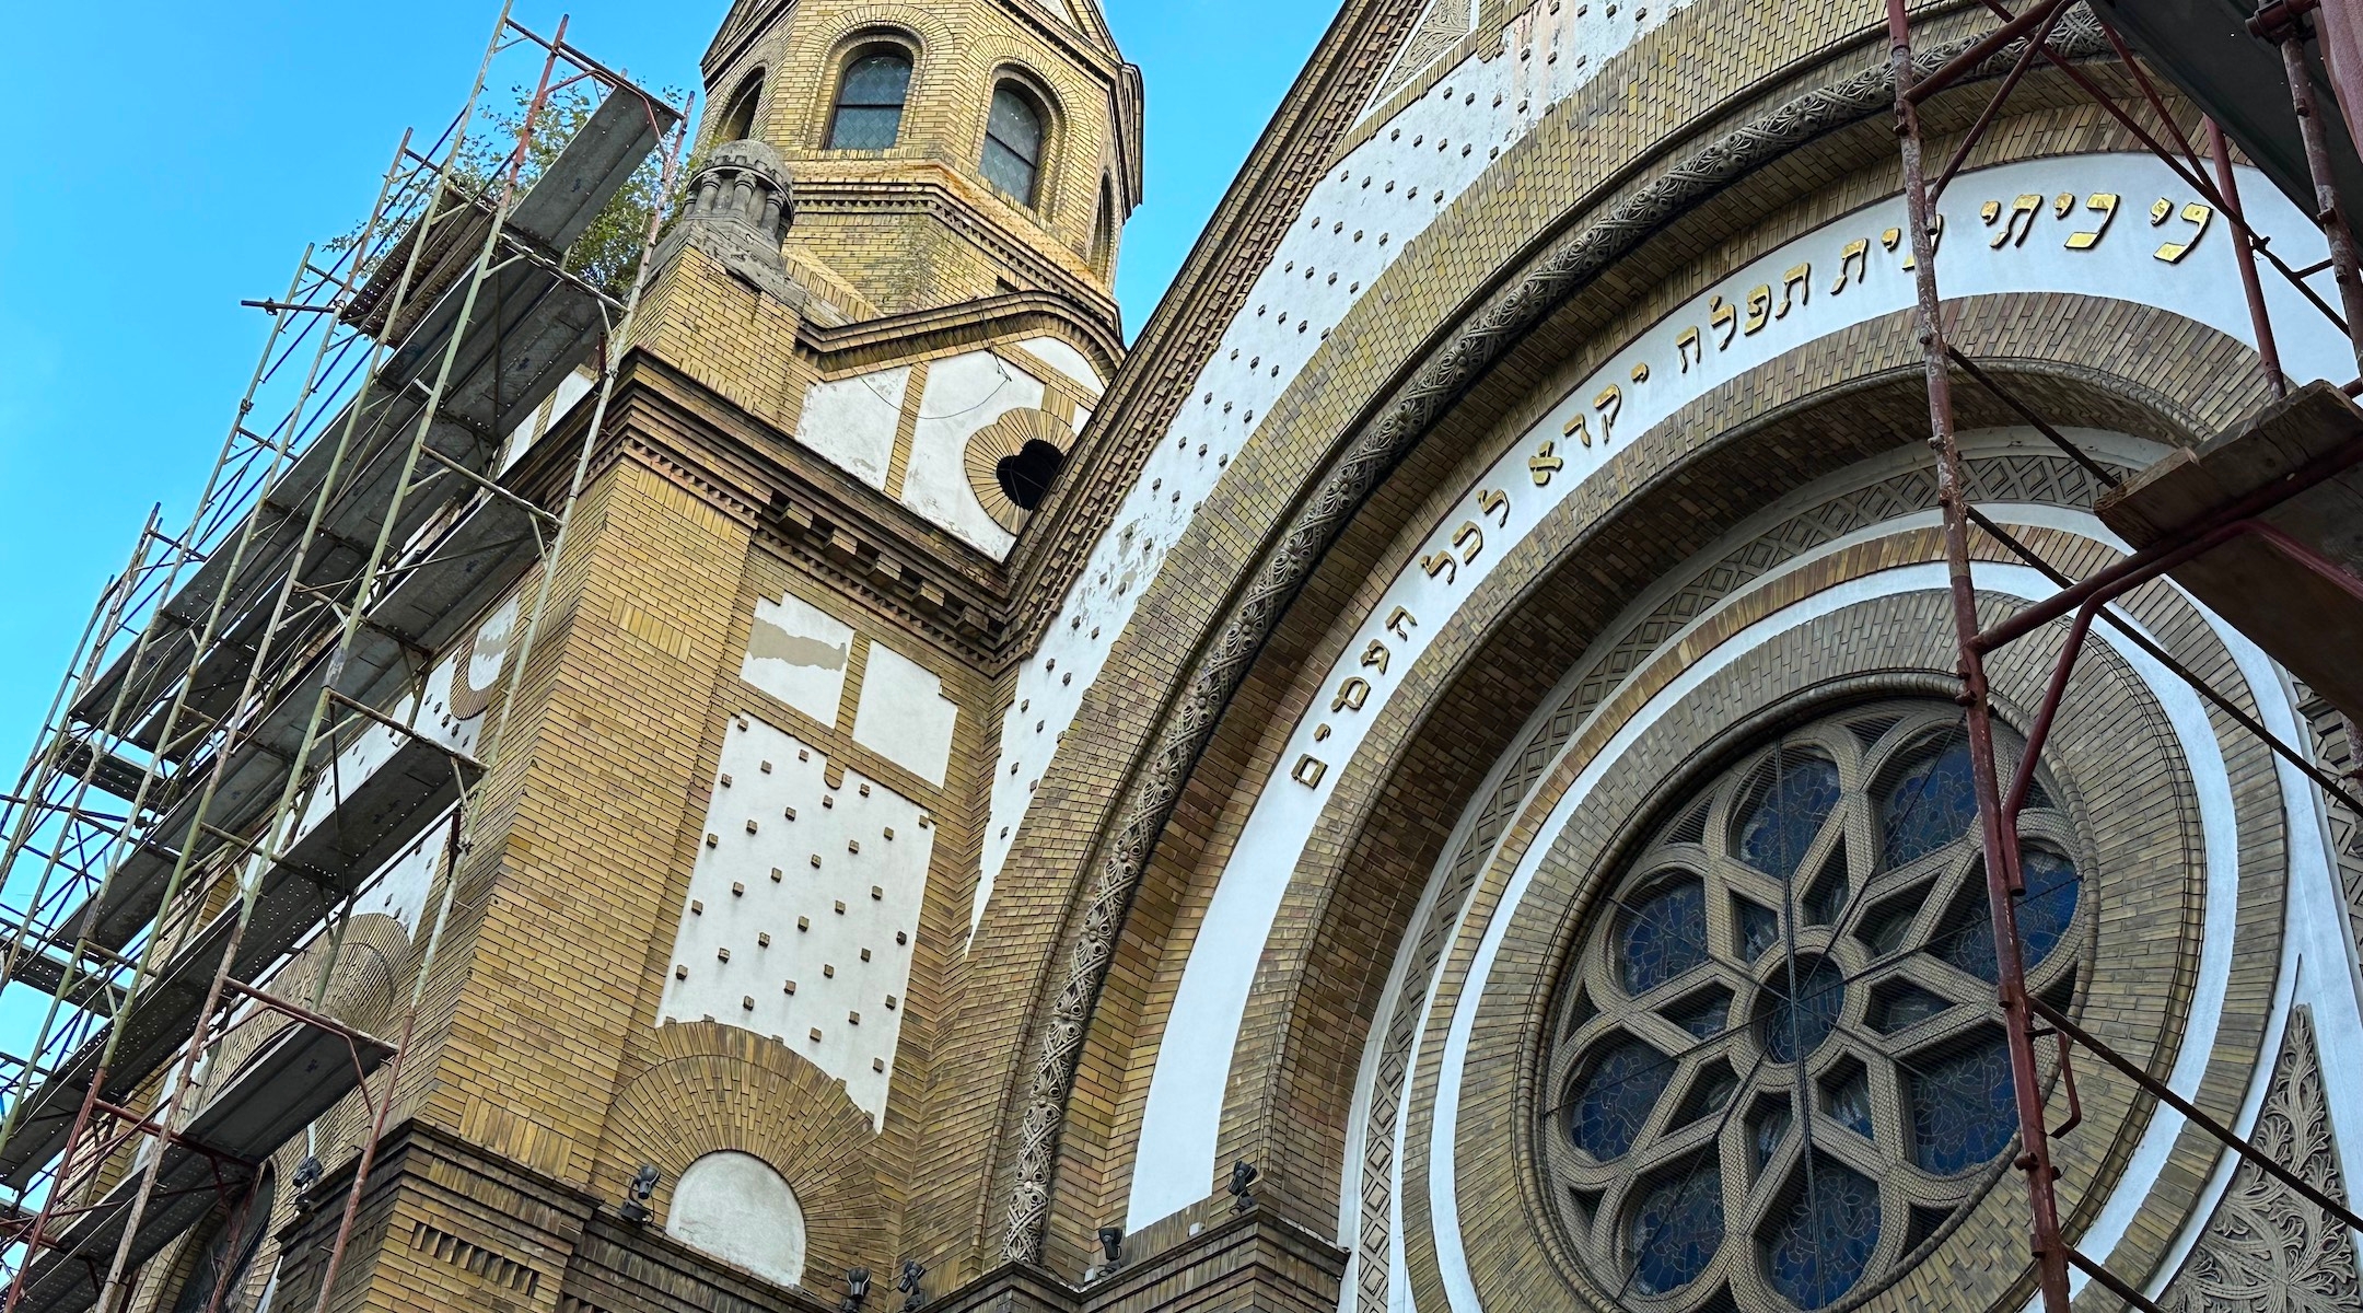
[[[2065,1006],[2091,914],[2056,798],[2020,817],[2018,923]],[[1959,708],[1829,716],[1678,803],[1560,985],[1543,1157],[1595,1280],[1817,1311],[1919,1261],[2018,1136],[1994,980]]]

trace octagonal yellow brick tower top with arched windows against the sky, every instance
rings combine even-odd
[[[780,153],[822,314],[1042,290],[1115,326],[1141,80],[1094,0],[740,0],[704,76],[699,153]]]

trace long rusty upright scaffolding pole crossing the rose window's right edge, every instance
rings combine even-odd
[[[2027,1008],[2025,963],[2018,952],[2018,855],[2006,843],[2001,789],[1994,770],[1994,723],[1987,706],[1985,661],[1978,652],[1978,593],[1968,569],[1968,489],[1961,479],[1961,449],[1952,430],[1952,378],[1945,350],[1942,305],[1935,286],[1933,215],[1928,213],[1921,130],[1912,97],[1912,19],[1905,0],[1888,0],[1888,66],[1895,76],[1895,135],[1902,151],[1907,227],[1912,231],[1912,276],[1919,300],[1921,357],[1928,373],[1928,446],[1935,453],[1938,505],[1945,512],[1945,567],[1952,583],[1952,623],[1961,661],[1961,708],[1968,727],[1968,763],[1978,789],[1978,831],[1985,857],[1985,893],[1994,919],[1994,966],[1999,975],[2001,1015],[2011,1056],[2011,1089],[2018,1100],[2018,1169],[2027,1176],[2032,1214],[2035,1282],[2044,1313],[2070,1313],[2068,1245],[2061,1237],[2058,1197],[2051,1190],[2051,1141],[2044,1124],[2042,1074],[2035,1065],[2032,1013]]]

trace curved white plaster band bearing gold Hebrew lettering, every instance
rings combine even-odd
[[[2313,227],[2261,177],[2250,175],[2250,189],[2254,191],[2250,220],[2257,229],[2278,234],[2311,260],[2320,248],[2318,236],[2309,241]],[[2011,217],[2020,196],[2032,198],[2035,210]],[[2105,227],[2094,208],[2098,196],[2117,196]],[[2056,198],[2070,203],[2061,208]],[[2169,198],[2157,224],[2148,222],[2150,198]],[[1997,203],[1994,222],[1985,220],[1985,201]],[[2061,290],[2139,300],[2172,307],[2245,342],[2250,319],[2240,281],[2231,269],[2231,246],[2221,236],[2226,224],[2214,222],[2209,239],[2207,229],[2181,217],[2186,203],[2181,182],[2153,156],[2068,156],[1966,172],[1947,189],[1942,203],[1945,293],[1964,298]],[[1151,1077],[1132,1176],[1134,1219],[1163,1216],[1205,1193],[1229,1072],[1226,1060],[1212,1063],[1207,1053],[1229,1053],[1236,1044],[1255,961],[1297,853],[1340,777],[1337,765],[1361,746],[1368,723],[1437,628],[1493,569],[1505,548],[1531,534],[1543,515],[1597,472],[1630,435],[1673,416],[1708,387],[1810,340],[1909,307],[1912,274],[1902,269],[1902,253],[1883,243],[1886,229],[1900,224],[1900,198],[1855,210],[1737,269],[1716,290],[1642,331],[1465,489],[1463,503],[1434,527],[1413,560],[1401,564],[1380,605],[1328,673],[1316,713],[1295,727],[1281,772],[1250,812],[1191,947],[1163,1049],[1186,1053],[1189,1060],[1160,1063]],[[2101,236],[2070,246],[2077,231]],[[2167,243],[2191,241],[2193,234],[2198,246],[2191,253],[2176,262],[2160,257]],[[1862,246],[1850,257],[1848,250],[1857,241]],[[1841,274],[1846,274],[1843,290]],[[2276,321],[2318,324],[2292,288],[2268,286],[2266,295]],[[2351,357],[2342,364],[2344,342],[2335,333],[2297,333],[2280,347],[2285,368],[2294,378],[2337,378],[2351,371]],[[1385,652],[1382,664],[1363,664],[1373,645]],[[1094,652],[1104,654],[1104,647]],[[1030,664],[1028,673],[1047,668],[1059,656],[1096,671],[1094,652],[1078,654],[1044,642],[1047,656]],[[1330,711],[1333,697],[1349,692],[1347,680],[1366,685],[1359,690],[1359,706]],[[1021,678],[1016,706],[1028,704],[1028,687],[1040,685]],[[1052,706],[1063,706],[1066,716],[1073,716],[1073,701],[1063,694]],[[1004,765],[995,775],[995,812],[985,845],[988,874],[1000,860],[995,843],[1002,845],[1000,855],[1007,855],[1002,791],[1014,779],[1007,767],[1011,744],[1026,744],[1021,734],[1011,734],[1007,720],[1002,742]],[[1047,753],[1040,760],[1047,760]],[[1007,815],[1018,815],[1021,805],[1014,803]]]

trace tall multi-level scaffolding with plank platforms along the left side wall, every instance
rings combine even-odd
[[[532,94],[503,120],[484,94],[510,71]],[[562,139],[555,104],[581,106]],[[449,128],[404,135],[362,227],[246,302],[269,328],[196,512],[180,534],[149,515],[0,810],[0,980],[40,1001],[0,1053],[0,1313],[123,1308],[208,1214],[232,1240],[260,1228],[262,1162],[364,1091],[326,1308],[688,109],[503,5]],[[577,243],[652,158],[655,203],[605,234],[603,286]],[[503,475],[560,406],[588,411],[572,482],[525,491]],[[437,716],[430,666],[536,564],[503,692],[473,723]],[[425,845],[440,895],[378,1039],[324,999],[354,907]]]

